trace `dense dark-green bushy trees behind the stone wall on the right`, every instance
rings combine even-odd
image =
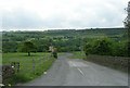
[[[86,55],[100,54],[128,56],[128,40],[116,41],[107,37],[93,39],[86,42],[83,50],[86,52]]]

